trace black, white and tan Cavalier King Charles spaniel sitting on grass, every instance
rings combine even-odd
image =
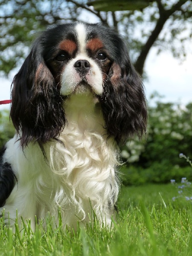
[[[101,24],[49,27],[12,82],[15,137],[0,152],[0,212],[14,226],[111,225],[119,145],[145,133],[140,76],[121,37]],[[22,217],[22,218],[21,218]],[[9,220],[8,220],[9,219]]]

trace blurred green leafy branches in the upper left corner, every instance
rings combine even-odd
[[[26,58],[29,46],[48,25],[78,17],[74,6],[65,1],[0,1],[0,71],[1,75],[18,67]],[[6,54],[5,54],[6,53]]]

